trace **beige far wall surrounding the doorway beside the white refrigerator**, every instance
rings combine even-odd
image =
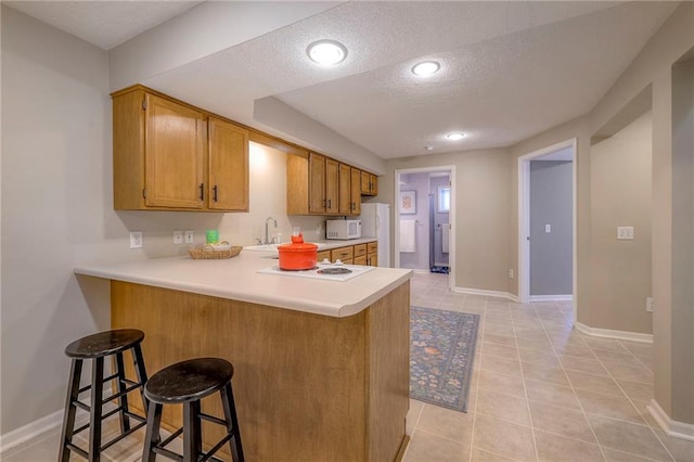
[[[395,170],[450,165],[455,166],[454,285],[506,293],[511,281],[509,151],[471,151],[388,161],[387,175],[378,182],[378,198],[395,203]]]

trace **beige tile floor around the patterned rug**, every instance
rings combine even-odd
[[[646,410],[651,345],[571,330],[568,303],[520,305],[452,293],[447,278],[416,273],[411,301],[480,315],[468,411],[412,400],[406,462],[694,462],[694,442],[665,435]],[[102,460],[139,461],[143,431],[134,435]],[[59,429],[48,432],[0,460],[54,461],[59,439]]]

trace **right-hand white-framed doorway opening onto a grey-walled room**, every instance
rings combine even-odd
[[[518,298],[520,303],[530,303],[530,301],[539,301],[539,300],[557,300],[557,299],[574,299],[574,320],[576,320],[576,139],[567,140],[548,147],[544,147],[539,151],[535,151],[532,153],[526,154],[524,156],[518,157]],[[542,164],[542,162],[548,162],[548,164]],[[550,164],[551,163],[551,164]],[[570,166],[568,165],[570,163]],[[570,169],[570,171],[567,170]],[[544,170],[544,171],[543,171]],[[554,171],[551,171],[554,170]],[[550,172],[553,176],[564,175],[560,174],[560,170],[566,171],[567,178],[570,178],[570,192],[566,195],[567,201],[564,203],[564,207],[570,208],[570,214],[568,214],[567,220],[570,220],[570,223],[564,223],[567,221],[565,219],[560,218],[557,215],[553,215],[553,218],[547,218],[547,215],[542,214],[532,214],[532,194],[531,194],[531,179],[538,178],[542,179],[541,188],[549,188],[552,184],[552,181],[556,182],[555,179],[551,179],[547,174]],[[534,172],[539,172],[538,176],[534,176]],[[549,180],[548,180],[549,179]],[[558,195],[558,194],[555,194]],[[547,196],[547,192],[541,192],[538,195],[537,191],[535,192],[536,201]],[[541,202],[536,203],[536,207],[545,207],[545,204],[541,204]],[[568,213],[568,210],[565,210]],[[534,222],[535,220],[535,222]],[[541,220],[541,221],[540,221]],[[556,222],[552,222],[556,221]],[[560,222],[562,222],[560,224]],[[568,228],[568,229],[567,229]],[[563,248],[566,249],[566,245],[570,245],[570,251],[566,249],[564,255],[562,256],[563,260],[558,261],[558,270],[557,270],[557,261],[550,261],[551,258],[555,258],[557,255],[556,251],[556,240],[550,240],[544,238],[555,238],[552,235],[552,232],[556,231],[565,231],[565,239],[569,239],[570,243],[564,243]],[[568,236],[568,234],[570,236]],[[558,238],[558,236],[557,236]],[[549,262],[545,264],[550,267],[542,268],[542,262],[537,260],[542,260],[541,251],[544,246],[544,249],[548,251],[552,248],[548,247],[548,242],[554,241],[554,251],[552,251],[552,256]],[[535,248],[534,248],[535,246]],[[536,261],[534,261],[534,258]],[[570,261],[567,261],[570,259]],[[537,264],[537,265],[534,265]],[[568,268],[567,268],[568,266]],[[569,282],[562,283],[561,281],[555,281],[554,290],[542,287],[538,288],[537,286],[532,286],[531,279],[534,271],[542,271],[556,273],[554,275],[561,277],[564,273],[564,278],[570,278]],[[570,272],[569,274],[566,274]],[[552,280],[552,278],[541,278],[544,281]],[[555,278],[556,279],[556,278]],[[556,290],[556,286],[562,288]],[[570,290],[570,294],[566,292]],[[536,291],[536,293],[534,293]],[[538,293],[539,292],[539,293]],[[542,294],[542,292],[550,292],[549,294]]]

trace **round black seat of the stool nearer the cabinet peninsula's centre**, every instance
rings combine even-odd
[[[152,375],[144,386],[144,396],[165,405],[200,400],[223,388],[233,375],[233,365],[223,359],[190,359]]]

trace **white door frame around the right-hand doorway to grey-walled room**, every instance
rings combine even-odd
[[[571,147],[573,151],[573,297],[574,322],[576,322],[577,307],[577,236],[576,236],[576,183],[577,183],[577,139],[566,141],[534,151],[518,157],[518,299],[523,304],[530,300],[530,161],[550,154],[562,149]]]

